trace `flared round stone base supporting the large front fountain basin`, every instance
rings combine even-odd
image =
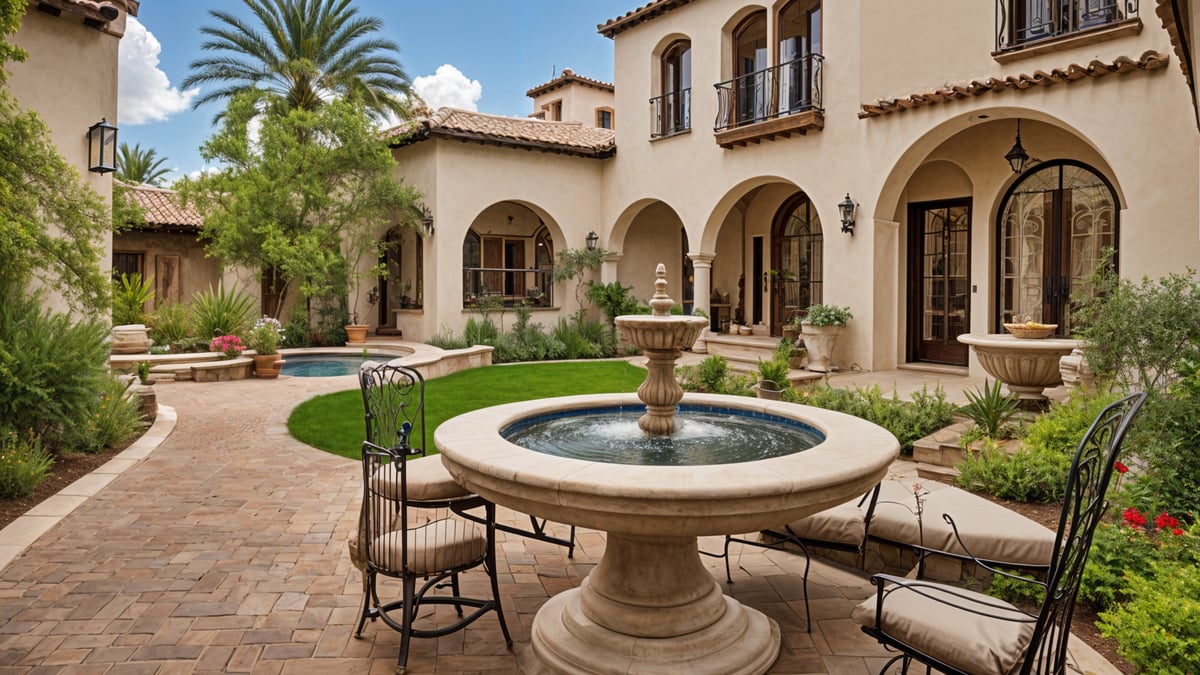
[[[721,592],[695,537],[608,532],[600,565],[542,605],[532,639],[552,673],[750,674],[774,663],[780,632]]]

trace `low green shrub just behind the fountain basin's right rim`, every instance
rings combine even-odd
[[[912,454],[914,442],[950,424],[956,407],[946,400],[946,392],[941,387],[932,393],[922,388],[911,398],[912,401],[902,401],[895,392],[890,399],[886,398],[878,384],[853,390],[823,384],[802,393],[800,402],[874,422],[900,441],[902,453]]]

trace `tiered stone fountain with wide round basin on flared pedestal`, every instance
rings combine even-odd
[[[496,406],[448,420],[434,435],[443,462],[473,492],[607,532],[604,556],[583,584],[538,611],[532,653],[523,658],[530,671],[767,671],[779,655],[779,626],[722,592],[700,560],[697,537],[752,532],[846,502],[883,478],[900,450],[886,430],[842,413],[744,396],[684,395],[674,382],[674,362],[706,321],[670,316],[662,265],[656,276],[655,313],[617,318],[622,335],[649,357],[637,396]],[[541,418],[604,418],[644,407],[637,426],[653,442],[671,444],[677,423],[691,424],[689,410],[677,414],[677,404],[751,418],[769,435],[804,426],[816,441],[752,461],[644,466],[547,454],[506,436]],[[718,453],[742,449],[728,447],[720,434],[712,443]]]

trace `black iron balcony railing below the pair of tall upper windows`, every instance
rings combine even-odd
[[[821,62],[809,54],[766,70],[714,84],[716,125],[721,132],[821,108]]]

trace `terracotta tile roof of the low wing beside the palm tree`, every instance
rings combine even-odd
[[[443,136],[598,159],[611,156],[617,150],[613,132],[608,129],[571,121],[505,118],[457,108],[440,108],[427,118],[392,127],[384,136],[392,138],[394,145]]]

